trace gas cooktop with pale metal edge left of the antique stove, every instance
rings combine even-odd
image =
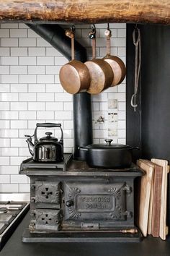
[[[0,194],[0,250],[29,210],[29,205],[27,195]]]

